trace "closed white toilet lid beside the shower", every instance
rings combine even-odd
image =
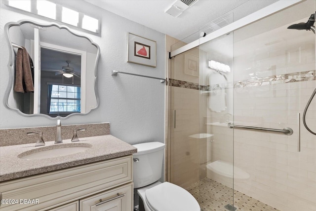
[[[154,211],[200,211],[197,200],[188,191],[169,182],[147,189],[146,201]]]

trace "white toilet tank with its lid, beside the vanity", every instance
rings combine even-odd
[[[134,188],[158,181],[162,172],[164,143],[146,142],[133,146],[137,148],[137,153],[133,154]]]

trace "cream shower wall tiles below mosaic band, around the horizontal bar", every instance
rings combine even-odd
[[[277,90],[269,86],[272,90],[266,91],[255,87],[250,93],[235,94],[239,124],[290,127],[294,133],[286,136],[235,129],[234,165],[250,174],[250,178],[235,179],[234,188],[281,211],[315,211],[316,138],[307,132],[301,118],[301,151],[298,152],[297,113],[303,113],[314,90],[311,87],[316,84],[308,81],[286,85],[277,86]],[[315,108],[316,104],[312,103],[307,114],[307,123],[314,130]],[[249,110],[252,115],[237,114]]]

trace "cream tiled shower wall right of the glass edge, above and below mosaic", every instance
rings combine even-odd
[[[265,128],[290,127],[294,131],[293,135],[286,136],[235,129],[234,165],[250,177],[235,179],[234,189],[281,211],[315,211],[316,136],[302,123],[303,110],[316,88],[315,35],[286,27],[234,43],[235,84],[238,81],[246,84],[234,89],[235,122]],[[251,82],[256,78],[286,74],[297,76],[293,80]],[[300,152],[298,113],[301,113]],[[316,131],[316,99],[306,116],[307,124]]]

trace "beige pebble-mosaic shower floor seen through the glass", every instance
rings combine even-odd
[[[199,185],[202,188],[199,189]],[[232,206],[227,206],[232,204],[233,192],[235,211],[279,211],[207,177],[186,190],[197,199],[202,211],[234,211]],[[225,206],[232,209],[226,209]]]

